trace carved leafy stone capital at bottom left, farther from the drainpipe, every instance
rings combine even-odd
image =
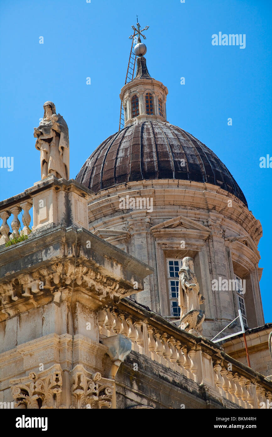
[[[62,369],[54,364],[36,375],[31,372],[24,378],[11,379],[11,390],[15,406],[27,409],[58,409],[62,392]]]

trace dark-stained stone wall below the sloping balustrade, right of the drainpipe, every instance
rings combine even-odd
[[[135,364],[137,364],[137,370]],[[208,390],[183,375],[131,351],[116,378],[117,408],[146,406],[155,409],[239,408],[220,402]]]

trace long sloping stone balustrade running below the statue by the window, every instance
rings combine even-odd
[[[263,375],[234,360],[215,343],[177,328],[130,299],[101,310],[98,323],[101,340],[123,334],[131,339],[132,350],[204,385],[223,403],[227,399],[252,409],[266,408],[272,402],[272,383]]]

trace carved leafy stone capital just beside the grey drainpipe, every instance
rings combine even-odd
[[[111,407],[114,380],[102,378],[99,372],[90,373],[81,365],[72,371],[72,395],[70,408],[107,409]]]

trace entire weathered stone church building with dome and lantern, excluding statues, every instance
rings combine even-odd
[[[166,121],[167,93],[138,59],[136,77],[121,90],[124,130],[102,143],[77,180],[67,180],[68,160],[61,179],[41,167],[41,181],[0,202],[0,408],[258,409],[272,402],[261,224],[217,156]],[[45,122],[59,139],[59,116],[46,103]],[[182,259],[190,259],[197,284],[185,292],[194,286],[205,297],[197,309],[206,315],[202,335],[178,327],[179,277],[169,266],[179,272]],[[252,368],[241,336],[222,347],[211,341],[239,309],[251,328]],[[233,323],[225,335],[240,330]]]

